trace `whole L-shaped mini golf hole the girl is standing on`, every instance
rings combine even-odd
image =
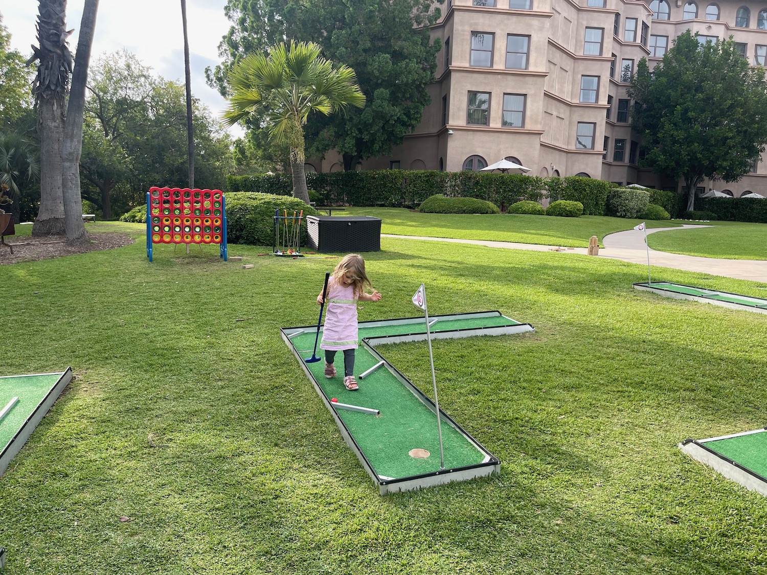
[[[430,317],[432,339],[525,331],[532,331],[532,327],[505,317],[498,311]],[[379,343],[425,340],[426,322],[423,317],[360,322],[360,347],[355,362],[360,389],[354,392],[344,389],[343,368],[338,376],[328,380],[324,377],[323,360],[306,363],[318,337],[317,326],[288,327],[283,328],[281,333],[328,409],[331,409],[347,445],[357,454],[382,494],[440,485],[498,471],[498,459],[440,409],[444,454],[442,468],[436,409],[432,399],[413,386],[374,349]],[[426,347],[424,352],[427,353]],[[317,353],[319,357],[322,352],[318,349]],[[333,398],[341,403],[376,409],[380,415],[341,409],[334,405]],[[414,449],[426,450],[429,455],[415,457],[411,455]]]

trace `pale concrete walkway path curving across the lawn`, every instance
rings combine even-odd
[[[673,229],[706,228],[705,225],[685,224],[681,228],[653,228],[647,233]],[[587,248],[561,248],[554,245],[519,244],[512,241],[466,240],[455,238],[429,238],[421,235],[381,234],[384,238],[407,238],[434,241],[452,241],[459,244],[486,245],[489,248],[511,248],[532,251],[561,251],[570,254],[586,255]],[[644,245],[644,232],[628,230],[604,236],[604,248],[599,249],[599,258],[611,258],[630,261],[634,264],[647,265],[647,248]],[[694,255],[669,254],[665,251],[650,249],[650,266],[674,268],[686,271],[700,271],[704,274],[722,275],[726,278],[752,280],[767,283],[767,260],[724,260],[700,258]]]

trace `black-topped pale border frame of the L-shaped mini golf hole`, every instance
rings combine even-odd
[[[430,322],[433,322],[434,320],[463,320],[477,317],[504,317],[506,320],[509,320],[509,322],[512,322],[513,325],[489,328],[472,327],[445,330],[431,333],[431,337],[432,339],[454,339],[460,337],[474,337],[482,335],[522,334],[525,332],[535,331],[535,329],[530,324],[520,324],[517,321],[502,315],[499,311],[485,311],[470,314],[435,315],[430,316],[429,319]],[[436,414],[436,406],[432,399],[430,399],[428,396],[426,396],[425,393],[413,385],[413,383],[410,382],[407,377],[403,376],[403,374],[400,373],[396,367],[389,363],[389,361],[375,349],[376,345],[383,343],[400,343],[426,340],[426,322],[424,317],[403,317],[393,320],[364,321],[360,322],[358,325],[360,329],[364,329],[365,327],[378,327],[393,324],[401,325],[406,333],[364,338],[360,341],[360,347],[363,347],[364,350],[370,353],[370,355],[373,356],[377,362],[382,363],[379,369],[388,370],[397,380],[399,380],[403,386],[410,390],[410,393],[413,393],[413,396],[415,396],[416,399],[423,403],[427,409],[430,409],[431,412]],[[357,459],[359,459],[363,468],[365,471],[367,471],[367,474],[370,475],[370,478],[373,479],[374,484],[378,486],[380,494],[383,495],[388,493],[395,493],[397,491],[411,491],[414,489],[433,487],[435,485],[445,485],[453,481],[466,481],[472,478],[492,475],[500,471],[501,462],[499,459],[496,458],[495,455],[492,455],[492,453],[489,452],[479,442],[477,442],[476,439],[474,439],[472,435],[466,432],[465,429],[459,426],[459,424],[453,418],[448,416],[443,411],[443,409],[439,409],[440,420],[453,427],[453,429],[459,432],[459,434],[463,435],[467,442],[472,444],[475,449],[482,453],[484,456],[482,463],[476,465],[466,465],[460,468],[444,468],[440,469],[439,471],[434,471],[423,475],[410,475],[403,478],[390,478],[378,475],[374,470],[373,465],[371,465],[367,457],[365,457],[362,449],[360,449],[360,446],[357,445],[357,442],[354,440],[354,436],[352,435],[351,431],[347,428],[343,419],[341,419],[341,416],[338,415],[338,408],[333,405],[331,398],[324,392],[324,389],[322,389],[314,374],[311,373],[311,370],[309,370],[304,357],[301,356],[301,353],[298,349],[296,349],[293,341],[291,340],[291,335],[308,333],[315,334],[316,336],[317,331],[318,327],[316,325],[303,327],[283,327],[280,330],[282,339],[285,340],[285,343],[293,351],[295,357],[298,359],[298,362],[301,364],[301,367],[304,369],[304,373],[306,373],[309,380],[311,380],[313,383],[314,389],[317,391],[318,396],[320,396],[323,403],[328,408],[328,411],[331,412],[331,415],[333,416],[333,419],[335,420],[336,425],[341,432],[341,436],[344,438],[347,446],[349,449],[351,449],[352,452],[354,452],[355,455],[357,455]]]

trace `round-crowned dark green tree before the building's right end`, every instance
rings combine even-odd
[[[628,95],[645,164],[683,178],[687,209],[703,179],[735,182],[767,143],[767,83],[732,41],[701,44],[686,31],[653,70],[642,58]]]

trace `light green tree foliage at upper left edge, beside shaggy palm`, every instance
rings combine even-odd
[[[8,129],[32,107],[31,77],[25,58],[9,50],[10,45],[11,35],[0,14],[0,130]]]

